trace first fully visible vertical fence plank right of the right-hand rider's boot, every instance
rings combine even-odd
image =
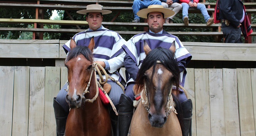
[[[208,69],[195,69],[196,135],[211,135]]]

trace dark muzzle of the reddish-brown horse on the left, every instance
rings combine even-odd
[[[66,95],[66,101],[71,109],[80,108],[83,97],[81,95]]]

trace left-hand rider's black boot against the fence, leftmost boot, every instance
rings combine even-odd
[[[68,112],[66,112],[60,103],[56,101],[56,97],[53,98],[53,108],[56,120],[57,136],[64,136]]]

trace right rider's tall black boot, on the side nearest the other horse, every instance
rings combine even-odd
[[[119,136],[127,136],[133,114],[133,102],[125,94],[121,94],[118,110]]]

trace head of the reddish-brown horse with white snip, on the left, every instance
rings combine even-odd
[[[65,59],[65,66],[68,69],[68,94],[66,95],[66,101],[70,108],[77,109],[82,104],[83,93],[90,82],[91,74],[94,74],[92,73],[94,39],[91,38],[89,46],[86,47],[76,46],[75,40],[71,38],[70,48],[71,50]]]

